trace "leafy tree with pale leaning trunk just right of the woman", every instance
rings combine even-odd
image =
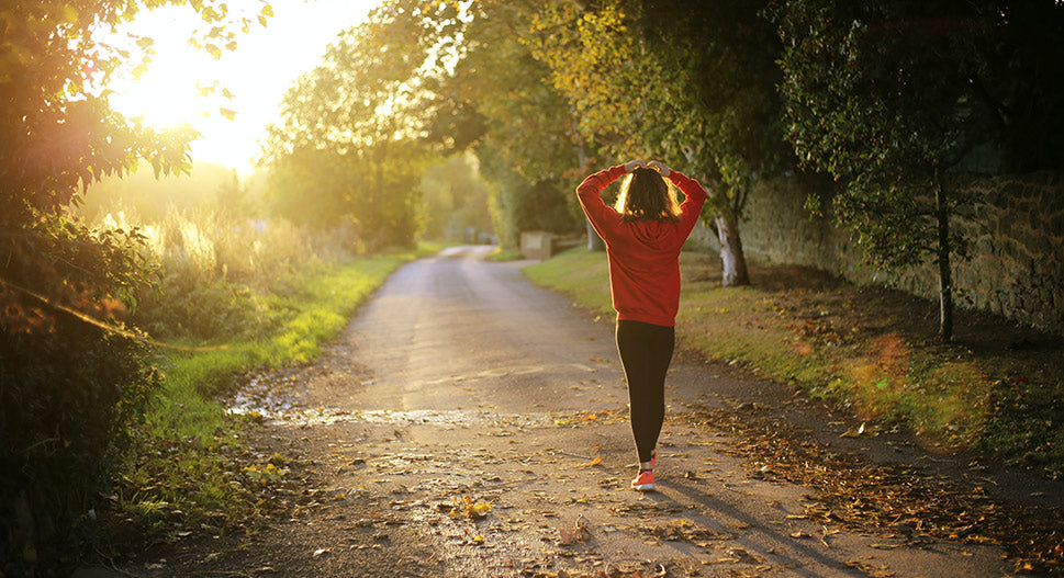
[[[725,285],[749,277],[739,220],[751,182],[788,166],[779,42],[763,2],[608,0],[546,5],[529,42],[573,103],[579,127],[614,158],[684,159],[710,192]]]

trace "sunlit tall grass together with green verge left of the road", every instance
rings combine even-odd
[[[108,215],[104,227],[134,226]],[[392,271],[436,248],[355,256],[339,231],[205,207],[135,226],[160,275],[133,321],[166,343],[154,360],[158,389],[113,455],[99,525],[82,520],[86,536],[102,526],[108,539],[96,547],[109,554],[113,544],[253,530],[288,469],[279,455],[247,452],[247,426],[260,417],[226,407],[240,375],[310,361]]]

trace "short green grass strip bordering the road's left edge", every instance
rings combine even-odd
[[[115,542],[243,531],[268,510],[264,489],[283,478],[285,460],[245,451],[242,439],[254,417],[228,413],[221,394],[231,390],[239,372],[313,359],[389,274],[437,249],[359,258],[298,277],[293,291],[266,299],[282,319],[271,335],[242,335],[194,353],[164,353],[163,390],[134,431],[133,451],[123,456],[109,500]]]

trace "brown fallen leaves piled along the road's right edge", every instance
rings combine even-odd
[[[983,487],[962,488],[919,467],[872,464],[837,454],[808,435],[781,428],[766,408],[702,407],[684,419],[730,432],[725,452],[742,458],[752,477],[817,490],[804,502],[811,521],[877,532],[900,539],[904,545],[922,545],[932,539],[996,544],[1017,573],[1064,574],[1060,525],[1064,512],[1056,508],[1006,505]],[[874,429],[864,427],[843,435],[870,432]],[[873,570],[873,576],[889,576],[885,569]]]

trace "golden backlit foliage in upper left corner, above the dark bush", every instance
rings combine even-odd
[[[0,162],[4,213],[25,217],[26,206],[56,211],[75,202],[79,189],[108,174],[123,174],[145,159],[156,173],[188,168],[188,128],[153,131],[112,111],[108,84],[121,67],[146,66],[152,38],[131,35],[104,43],[99,29],[132,20],[142,9],[183,5],[187,0],[116,2],[47,0],[0,10]],[[264,0],[264,7],[268,7]],[[211,24],[190,38],[204,47],[233,42],[248,22],[225,2],[192,2]],[[136,41],[133,43],[132,41]]]

